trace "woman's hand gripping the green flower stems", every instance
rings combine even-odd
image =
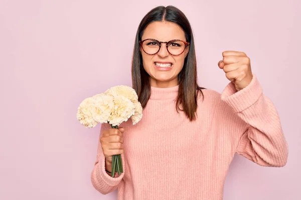
[[[123,127],[105,130],[100,138],[102,152],[106,159],[107,170],[111,171],[109,165],[112,163],[112,155],[123,153]]]

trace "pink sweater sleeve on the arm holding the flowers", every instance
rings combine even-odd
[[[123,175],[124,175],[124,156],[121,154],[122,159],[122,166],[123,166],[123,173],[120,173],[120,176],[118,173],[114,177],[111,177],[107,172],[105,171],[105,157],[102,152],[102,147],[100,143],[100,138],[102,136],[102,133],[105,129],[110,128],[109,124],[103,123],[100,128],[100,135],[98,139],[98,146],[97,146],[97,156],[96,161],[94,164],[94,168],[91,173],[91,181],[92,185],[96,190],[98,190],[102,194],[107,194],[112,191],[114,191],[120,184],[121,181],[123,181]]]

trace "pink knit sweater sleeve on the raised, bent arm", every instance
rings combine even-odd
[[[279,115],[271,100],[263,94],[256,75],[239,91],[230,82],[221,97],[246,122],[244,131],[239,134],[236,152],[262,166],[284,166],[288,145]]]

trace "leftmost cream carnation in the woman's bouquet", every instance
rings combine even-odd
[[[94,110],[94,102],[95,99],[88,97],[84,99],[77,108],[77,119],[82,125],[89,128],[97,125],[97,121],[93,118],[92,114]]]

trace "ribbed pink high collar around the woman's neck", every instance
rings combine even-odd
[[[154,87],[150,86],[149,99],[171,99],[178,96],[179,84],[172,87]]]

